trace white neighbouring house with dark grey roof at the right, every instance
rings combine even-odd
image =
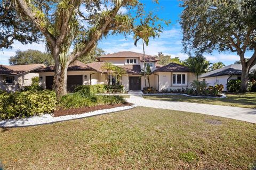
[[[254,65],[251,70],[256,69]],[[217,70],[213,70],[207,73],[202,74],[199,77],[200,81],[206,81],[210,86],[215,84],[223,84],[224,91],[227,91],[227,83],[229,80],[241,80],[242,75],[242,65],[241,64],[231,64],[225,67],[222,67]]]

